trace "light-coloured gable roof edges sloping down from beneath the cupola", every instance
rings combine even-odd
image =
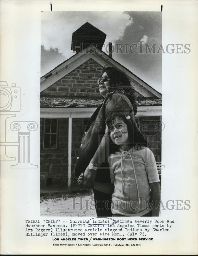
[[[91,25],[91,24],[90,24]],[[68,73],[72,72],[74,69],[79,67],[85,61],[89,59],[94,59],[98,62],[102,67],[111,66],[118,68],[126,73],[126,75],[137,84],[141,84],[141,88],[145,88],[146,92],[144,97],[154,97],[154,98],[161,98],[162,94],[152,88],[149,84],[144,82],[141,78],[137,77],[133,72],[129,69],[125,68],[122,64],[111,58],[105,52],[100,51],[99,49],[95,48],[94,52],[91,51],[90,46],[86,49],[86,52],[79,52],[74,56],[70,57],[69,59],[62,62],[60,65],[55,67],[53,70],[45,74],[41,77],[41,92],[51,86],[53,83],[60,80],[62,77],[66,76]],[[138,88],[135,87],[138,91]],[[147,95],[146,95],[147,93]]]

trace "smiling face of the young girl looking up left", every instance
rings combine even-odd
[[[129,142],[129,134],[127,125],[121,118],[115,118],[110,124],[110,136],[111,140],[119,146],[126,146],[126,142]]]

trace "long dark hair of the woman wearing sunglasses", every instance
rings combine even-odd
[[[122,91],[130,100],[133,106],[134,115],[136,115],[139,94],[132,87],[129,78],[123,71],[117,68],[107,67],[104,69],[104,72],[107,73],[107,76],[110,79],[110,86],[108,87],[107,93]]]

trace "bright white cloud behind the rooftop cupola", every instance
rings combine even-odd
[[[86,22],[107,35],[104,42],[107,45],[123,36],[126,27],[133,23],[133,18],[123,12],[43,12],[41,45],[46,50],[58,48],[66,58],[71,57],[74,55],[71,50],[72,33]]]

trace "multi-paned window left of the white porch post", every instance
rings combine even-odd
[[[43,148],[57,149],[58,119],[44,119]]]

